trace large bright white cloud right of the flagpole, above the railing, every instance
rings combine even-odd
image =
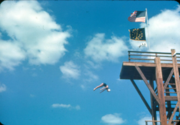
[[[149,19],[148,42],[150,42],[150,50],[157,52],[171,52],[176,49],[180,52],[180,6],[175,10],[162,10],[161,13]],[[141,24],[141,27],[144,24]],[[132,42],[133,43],[133,42]],[[136,42],[137,44],[137,42]],[[148,43],[149,45],[149,43]],[[133,47],[135,45],[132,45]]]

